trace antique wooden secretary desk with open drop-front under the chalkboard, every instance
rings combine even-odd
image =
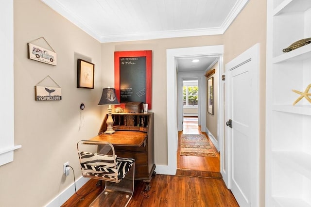
[[[99,135],[93,141],[111,143],[115,154],[122,158],[135,159],[135,180],[150,183],[155,175],[154,118],[153,113],[113,113],[113,134],[104,134],[108,114],[104,118]],[[146,190],[150,186],[147,184]]]

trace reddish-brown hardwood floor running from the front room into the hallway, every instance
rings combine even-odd
[[[182,133],[201,132],[197,122],[190,120],[184,121],[183,131],[178,133],[179,138]],[[239,207],[219,173],[219,154],[218,159],[180,156],[179,147],[177,153],[177,174],[156,174],[151,180],[150,191],[144,191],[144,182],[136,181],[128,207]],[[97,180],[89,180],[78,193],[90,193],[86,196],[73,194],[62,207],[87,207],[103,190],[96,183]]]

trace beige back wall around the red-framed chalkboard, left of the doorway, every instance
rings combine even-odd
[[[155,163],[167,165],[166,49],[222,45],[221,35],[102,44],[103,77],[114,73],[114,51],[152,50],[152,109],[155,113]],[[170,77],[173,79],[173,77]],[[104,83],[104,82],[103,82]]]

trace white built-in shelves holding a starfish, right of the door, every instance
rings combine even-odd
[[[311,207],[311,0],[267,1],[266,207]],[[310,92],[311,93],[311,92]]]

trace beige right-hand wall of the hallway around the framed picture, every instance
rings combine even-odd
[[[215,73],[208,77],[211,78],[211,77],[214,77],[213,78],[213,114],[209,113],[207,110],[206,110],[206,127],[208,129],[208,131],[213,135],[213,137],[215,138],[215,140],[218,141],[218,133],[217,133],[217,124],[218,124],[218,119],[217,119],[217,116],[218,116],[218,109],[217,109],[217,106],[218,106],[218,74],[219,74],[219,66],[218,66],[218,62],[215,63],[211,68],[212,69],[215,69]],[[207,80],[206,79],[206,87],[207,87]],[[207,93],[207,89],[206,89],[206,93]],[[208,94],[206,95],[206,103],[208,103]],[[207,106],[207,104],[206,104]]]

